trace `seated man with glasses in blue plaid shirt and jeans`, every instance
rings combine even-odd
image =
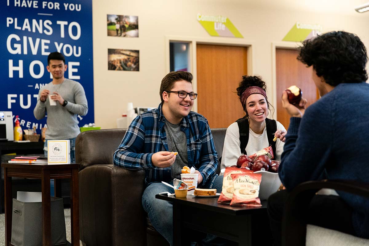
[[[154,228],[173,245],[172,204],[156,199],[155,195],[174,191],[161,181],[180,179],[184,166],[196,169],[198,187],[220,192],[223,179],[215,175],[218,157],[207,119],[191,111],[197,97],[192,89],[192,74],[168,73],[161,82],[160,97],[158,108],[132,121],[114,153],[114,165],[145,170],[142,206]]]

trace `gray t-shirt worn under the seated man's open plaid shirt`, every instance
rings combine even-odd
[[[164,126],[168,150],[178,152],[172,165],[172,179],[181,179],[181,169],[188,164],[186,133],[181,131],[180,124],[172,124],[168,121]]]

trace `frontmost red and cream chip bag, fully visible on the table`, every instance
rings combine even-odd
[[[261,207],[259,199],[261,174],[235,173],[231,174],[231,177],[234,191],[230,205]]]

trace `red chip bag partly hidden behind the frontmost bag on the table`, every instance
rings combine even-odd
[[[238,168],[235,167],[226,167],[224,171],[223,177],[223,187],[222,192],[219,196],[218,203],[229,203],[233,197],[233,181],[231,174],[232,173],[253,173],[253,171],[245,169],[245,168]]]

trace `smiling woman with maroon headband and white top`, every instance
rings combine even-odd
[[[287,131],[278,121],[267,118],[271,105],[265,89],[266,85],[261,77],[242,76],[237,95],[246,115],[227,128],[221,160],[222,169],[235,165],[240,155],[252,155],[270,144],[274,145],[275,159],[280,161]],[[273,142],[275,137],[277,141]]]

